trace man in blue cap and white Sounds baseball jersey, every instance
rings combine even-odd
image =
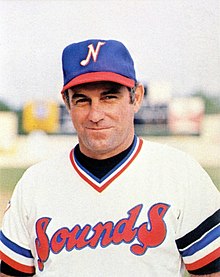
[[[1,276],[219,276],[219,192],[185,153],[135,135],[144,90],[128,50],[88,40],[62,61],[79,144],[16,186]]]

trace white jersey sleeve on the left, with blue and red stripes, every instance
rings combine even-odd
[[[23,193],[25,177],[19,181],[3,217],[0,232],[0,259],[20,272],[34,274],[34,259],[28,232],[27,193]],[[31,198],[29,195],[28,198]]]

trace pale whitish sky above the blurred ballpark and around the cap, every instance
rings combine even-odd
[[[63,48],[118,39],[137,78],[173,95],[220,94],[219,0],[0,0],[0,100],[60,101]]]

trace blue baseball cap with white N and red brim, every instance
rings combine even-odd
[[[62,93],[90,82],[111,81],[130,88],[136,83],[132,57],[116,40],[91,39],[70,44],[63,50],[62,65]]]

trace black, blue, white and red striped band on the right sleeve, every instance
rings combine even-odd
[[[191,274],[220,271],[220,210],[197,228],[176,240],[186,269]]]

